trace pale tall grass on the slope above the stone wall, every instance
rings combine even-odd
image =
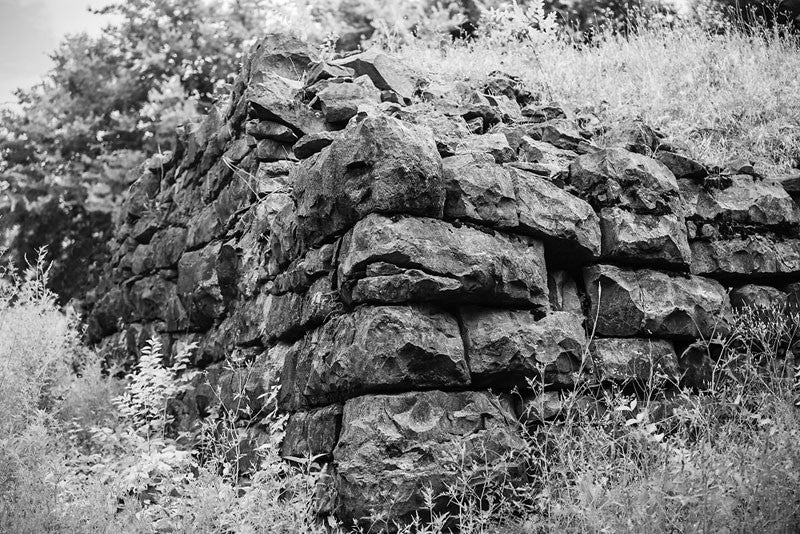
[[[692,21],[631,26],[626,36],[600,33],[591,46],[540,32],[412,41],[396,52],[439,82],[480,82],[500,70],[605,124],[643,119],[709,164],[749,158],[773,173],[800,167],[798,35],[752,26],[718,33]]]

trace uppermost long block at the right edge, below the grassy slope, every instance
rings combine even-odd
[[[783,231],[800,226],[800,207],[783,187],[750,175],[736,175],[723,188],[681,180],[686,217],[734,225],[766,225]]]

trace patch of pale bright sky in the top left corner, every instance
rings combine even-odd
[[[87,11],[104,0],[0,0],[0,105],[13,91],[39,81],[50,56],[68,33],[97,34],[103,17]]]

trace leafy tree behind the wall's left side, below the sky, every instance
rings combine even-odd
[[[0,246],[47,245],[62,301],[94,283],[112,215],[148,153],[224,94],[262,32],[262,0],[118,0],[99,37],[68,37],[40,84],[0,114]]]

